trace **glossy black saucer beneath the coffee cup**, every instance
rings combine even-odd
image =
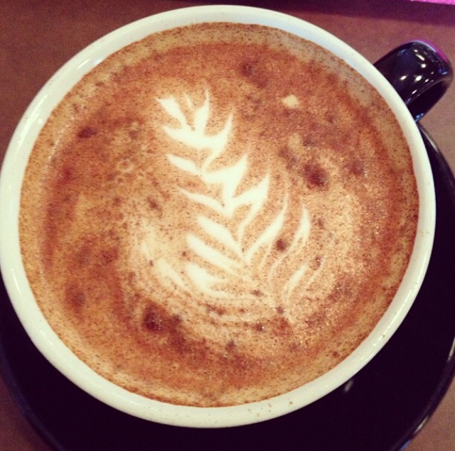
[[[370,364],[320,401],[240,428],[173,428],[133,418],[70,383],[36,350],[0,286],[0,368],[24,415],[55,450],[400,450],[454,376],[455,180],[422,130],[437,192],[427,277],[406,320]]]

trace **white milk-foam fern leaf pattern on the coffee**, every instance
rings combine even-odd
[[[185,196],[190,203],[203,206],[203,210],[199,210],[206,212],[206,214],[198,214],[198,230],[188,232],[186,236],[188,248],[199,259],[197,262],[186,263],[185,271],[177,271],[168,261],[161,259],[157,265],[158,270],[163,278],[178,288],[188,292],[197,290],[211,298],[234,297],[235,293],[228,288],[228,286],[232,287],[232,280],[242,283],[247,281],[249,286],[253,288],[256,286],[258,289],[260,287],[262,292],[264,289],[267,291],[267,286],[276,277],[284,261],[291,256],[301,254],[304,250],[311,230],[309,212],[301,206],[300,212],[297,213],[299,225],[296,227],[291,243],[286,251],[270,263],[269,256],[276,246],[289,214],[288,195],[283,194],[278,211],[272,220],[264,224],[262,229],[257,230],[255,239],[245,240],[248,226],[266,207],[271,175],[265,173],[259,181],[254,181],[249,188],[239,192],[239,187],[245,182],[248,173],[248,153],[243,153],[235,163],[227,167],[220,168],[219,165],[213,165],[227,150],[228,142],[232,138],[233,113],[226,117],[218,133],[208,134],[209,92],[205,92],[205,100],[199,107],[196,107],[189,97],[185,100],[186,111],[190,111],[190,114],[184,114],[175,97],[157,99],[166,114],[173,119],[172,123],[178,124],[178,126],[162,126],[164,132],[171,140],[179,143],[179,146],[183,145],[187,150],[191,150],[191,153],[186,152],[185,156],[178,155],[178,152],[167,153],[168,163],[186,175],[202,180],[203,186],[208,187],[206,192],[194,192],[178,187],[181,195]],[[188,154],[194,155],[194,158],[188,158]],[[242,186],[244,185],[245,183]],[[215,190],[212,189],[214,187]],[[213,192],[218,192],[218,197],[208,194]],[[240,222],[231,220],[235,215],[237,218],[241,217]],[[252,268],[254,261],[256,268]],[[301,283],[307,269],[306,262],[301,259],[299,267],[291,273],[288,280],[282,281],[281,286],[284,287],[282,295],[285,297],[291,295]],[[259,273],[260,276],[258,276]],[[230,281],[229,284],[226,283],[227,280]]]

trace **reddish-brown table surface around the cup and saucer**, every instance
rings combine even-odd
[[[213,2],[211,2],[213,3]],[[228,3],[227,1],[222,3]],[[241,3],[241,2],[237,2]],[[0,2],[0,161],[33,96],[66,60],[93,40],[153,13],[203,1],[3,0]],[[304,18],[371,61],[407,40],[423,38],[455,63],[455,6],[406,0],[250,1]],[[455,83],[423,120],[455,168]],[[0,450],[48,450],[0,378]],[[455,384],[409,451],[455,450]],[[368,451],[368,450],[363,450]]]

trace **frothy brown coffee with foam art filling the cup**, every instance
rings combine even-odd
[[[318,45],[205,23],[107,58],[33,148],[21,250],[82,361],[129,391],[229,406],[345,359],[410,259],[410,151]]]

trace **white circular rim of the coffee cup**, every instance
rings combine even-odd
[[[417,236],[405,277],[385,315],[353,353],[326,374],[288,393],[238,406],[200,408],[163,403],[129,392],[102,378],[65,347],[34,300],[21,261],[17,224],[21,185],[33,143],[49,114],[75,83],[129,43],[157,31],[209,21],[257,23],[284,29],[321,45],[359,72],[385,99],[400,123],[411,150],[420,199]],[[0,234],[0,269],[6,290],[28,336],[53,366],[87,393],[130,415],[168,425],[221,428],[257,423],[302,408],[345,384],[370,362],[400,326],[422,285],[434,239],[436,200],[432,170],[417,124],[395,89],[372,63],[347,43],[301,18],[251,6],[212,5],[141,18],[95,40],[60,67],[36,94],[11,138],[0,172],[0,215],[9,218]]]

